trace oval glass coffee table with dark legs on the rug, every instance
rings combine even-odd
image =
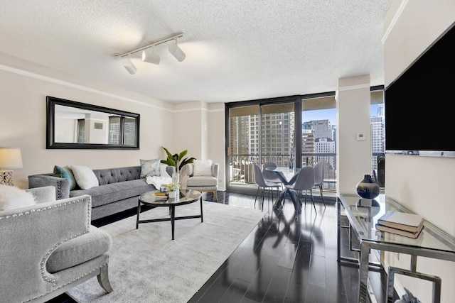
[[[180,189],[179,194],[175,198],[168,197],[159,197],[155,196],[155,193],[159,192],[158,190],[153,190],[151,192],[146,192],[139,196],[139,201],[137,202],[137,219],[136,219],[136,229],[139,228],[141,223],[149,222],[162,222],[162,221],[171,221],[172,226],[172,240],[174,235],[174,223],[176,220],[183,219],[195,219],[200,218],[200,221],[203,222],[203,212],[202,212],[202,193],[193,189]],[[181,206],[185,204],[190,204],[196,201],[200,201],[200,214],[194,216],[176,216],[176,206]],[[161,219],[149,219],[149,220],[139,220],[139,214],[141,213],[141,204],[152,206],[152,207],[168,207],[169,208],[169,218]]]

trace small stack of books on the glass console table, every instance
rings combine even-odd
[[[400,211],[387,211],[378,219],[376,229],[387,233],[409,238],[417,238],[424,227],[424,219],[418,214],[408,214]]]

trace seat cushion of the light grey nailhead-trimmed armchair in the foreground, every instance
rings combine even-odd
[[[92,260],[112,248],[112,237],[100,228],[90,226],[90,232],[63,242],[50,254],[46,269],[58,272]]]

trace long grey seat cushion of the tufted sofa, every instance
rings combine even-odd
[[[147,184],[145,179],[139,179],[105,184],[98,187],[92,187],[90,189],[75,189],[70,192],[70,197],[89,194],[92,196],[92,207],[97,207],[123,199],[136,197],[144,194],[144,192],[149,192],[154,189],[155,187],[151,184]]]

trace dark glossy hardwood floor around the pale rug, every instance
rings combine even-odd
[[[210,200],[211,194],[203,197]],[[231,192],[218,192],[218,203],[258,207],[255,195]],[[282,210],[272,210],[272,202],[269,206],[266,198],[264,219],[188,303],[358,302],[357,266],[337,261],[336,204],[326,201],[324,208],[316,202],[316,214],[307,201],[299,215],[289,199]],[[129,211],[92,224],[134,215]],[[354,257],[347,230],[342,240],[342,254]],[[370,271],[369,280],[378,302],[384,302],[385,272]],[[74,301],[63,294],[49,302]]]

